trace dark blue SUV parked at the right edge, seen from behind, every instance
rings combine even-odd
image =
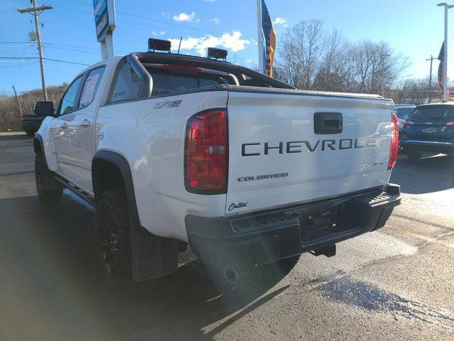
[[[403,126],[400,146],[409,158],[454,153],[454,102],[419,105]]]

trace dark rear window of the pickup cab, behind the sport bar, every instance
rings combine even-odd
[[[148,69],[153,79],[152,96],[172,94],[208,87],[216,84],[235,84],[229,75],[218,75],[208,72],[184,72],[162,69]]]

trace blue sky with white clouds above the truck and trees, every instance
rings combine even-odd
[[[428,75],[431,54],[438,55],[443,41],[443,10],[439,0],[265,0],[279,36],[301,20],[321,19],[328,30],[336,28],[348,40],[384,40],[408,55],[407,77]],[[454,1],[453,1],[454,2]],[[54,9],[40,15],[45,58],[93,64],[101,59],[94,31],[92,0],[38,0]],[[28,44],[34,28],[29,14],[16,9],[29,6],[28,0],[2,0],[0,6],[0,57],[33,57],[35,45]],[[255,0],[116,0],[117,27],[114,31],[116,55],[146,50],[150,37],[172,39],[183,36],[183,53],[203,53],[205,47],[224,45],[243,63],[258,63]],[[448,40],[448,75],[454,70],[454,9]],[[279,18],[279,19],[278,19]],[[453,43],[450,43],[453,42]],[[174,43],[173,45],[177,45]],[[434,63],[434,72],[438,61]],[[70,82],[82,65],[45,62],[48,85]],[[40,87],[36,61],[0,59],[0,93],[10,94],[11,85],[21,91]]]

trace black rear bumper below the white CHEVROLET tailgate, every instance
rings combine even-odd
[[[379,229],[400,202],[399,185],[388,184],[384,192],[367,190],[238,217],[187,215],[185,222],[189,244],[204,261],[265,264]]]

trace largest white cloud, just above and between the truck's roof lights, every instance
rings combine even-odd
[[[206,55],[207,48],[214,48],[216,46],[228,48],[233,52],[244,50],[246,45],[250,44],[249,40],[242,39],[240,31],[233,30],[231,32],[223,33],[222,36],[203,36],[203,37],[189,37],[182,40],[181,50],[196,50],[199,55]],[[169,39],[172,46],[179,45],[179,39]]]

